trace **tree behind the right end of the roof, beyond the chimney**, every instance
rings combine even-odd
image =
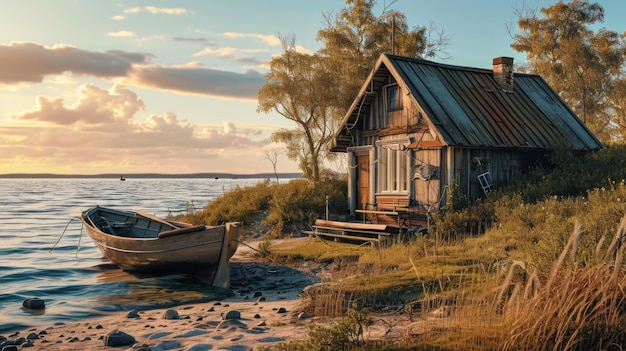
[[[521,33],[511,47],[524,52],[531,73],[541,75],[601,140],[615,135],[610,97],[622,74],[623,37],[590,27],[604,20],[597,3],[573,0],[536,11],[518,11]]]

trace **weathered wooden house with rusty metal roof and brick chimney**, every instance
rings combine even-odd
[[[537,75],[382,55],[343,118],[333,151],[348,153],[352,215],[437,211],[454,185],[484,196],[555,148],[602,144]]]

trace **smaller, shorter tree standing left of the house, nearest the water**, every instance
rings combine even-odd
[[[305,178],[318,181],[323,160],[333,157],[329,145],[338,123],[331,87],[336,77],[319,55],[297,52],[293,37],[281,40],[284,52],[270,62],[258,110],[276,111],[295,122],[294,129],[282,128],[271,139],[287,145],[287,157],[299,162]]]

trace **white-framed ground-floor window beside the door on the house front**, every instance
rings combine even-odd
[[[409,155],[401,144],[379,146],[378,192],[407,193],[409,191]]]

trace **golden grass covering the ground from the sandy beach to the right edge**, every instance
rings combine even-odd
[[[595,233],[585,228],[597,225],[565,222],[555,227],[569,235],[550,241],[563,242],[560,251],[534,246],[554,255],[529,255],[532,245],[519,237],[511,244],[502,228],[436,249],[433,239],[420,237],[381,249],[310,241],[286,249],[276,245],[271,252],[340,266],[332,283],[307,291],[314,315],[347,318],[350,306],[385,304],[401,306],[407,318],[421,321],[419,333],[397,344],[372,341],[350,344],[350,349],[621,350],[626,343],[626,224],[605,223],[614,232],[589,248],[587,237]],[[550,262],[526,260],[538,257],[550,257]]]

